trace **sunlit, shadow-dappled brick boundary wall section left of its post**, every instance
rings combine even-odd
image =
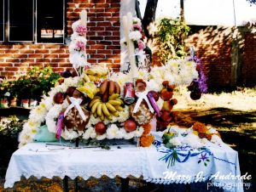
[[[203,27],[190,35],[186,42],[188,47],[195,46],[197,50],[207,75],[208,87],[228,87],[231,78],[231,29]]]

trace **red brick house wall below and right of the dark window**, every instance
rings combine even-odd
[[[67,35],[79,20],[83,9],[88,11],[87,53],[91,64],[106,65],[119,70],[119,8],[120,0],[67,0]],[[13,78],[29,66],[50,65],[55,71],[72,70],[67,45],[0,43],[0,76]]]

